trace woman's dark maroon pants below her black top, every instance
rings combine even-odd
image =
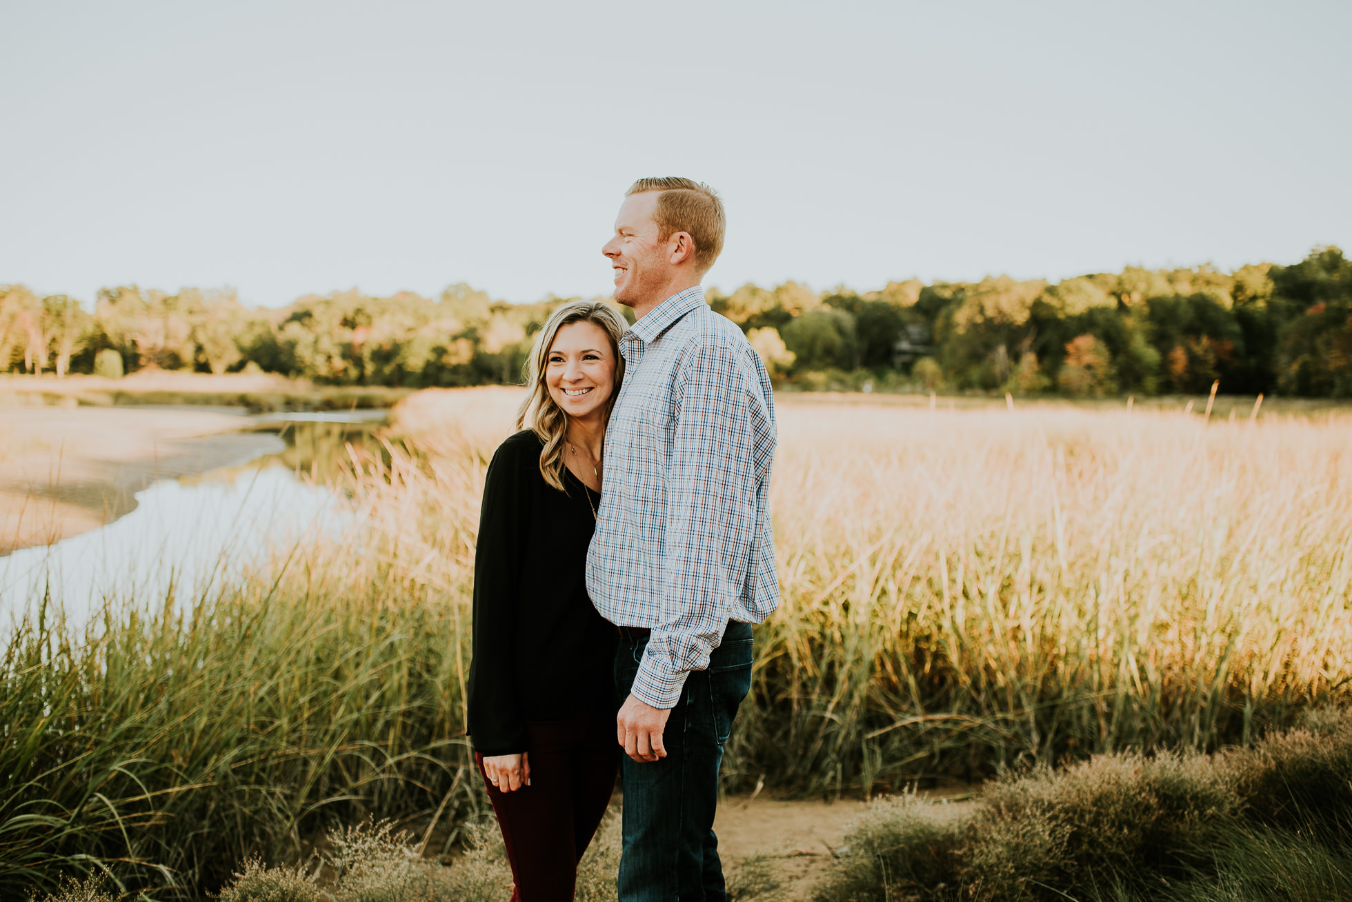
[[[503,832],[516,883],[512,902],[572,902],[577,861],[596,833],[615,790],[619,746],[615,718],[595,714],[571,721],[526,723],[530,786],[502,792],[479,775]]]

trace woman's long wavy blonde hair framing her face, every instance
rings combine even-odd
[[[600,326],[610,337],[610,350],[615,356],[615,383],[606,402],[606,419],[619,396],[619,384],[625,379],[625,358],[619,356],[619,337],[629,327],[625,318],[599,300],[575,300],[556,310],[535,335],[530,358],[526,361],[526,387],[530,394],[516,411],[516,429],[529,429],[545,442],[539,452],[539,475],[561,492],[564,488],[564,438],[568,435],[568,414],[554,403],[545,384],[549,350],[554,346],[558,330],[572,323],[588,322]]]

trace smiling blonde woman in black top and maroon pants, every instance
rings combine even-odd
[[[573,898],[615,787],[617,637],[587,596],[585,567],[623,331],[600,303],[549,318],[530,353],[522,431],[484,484],[469,733],[522,902]]]

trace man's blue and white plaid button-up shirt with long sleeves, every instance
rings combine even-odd
[[[760,356],[699,287],[634,323],[619,352],[587,591],[610,622],[652,629],[633,692],[672,707],[729,619],[760,623],[779,606],[775,398]]]

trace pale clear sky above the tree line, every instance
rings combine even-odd
[[[610,289],[625,188],[706,285],[1352,250],[1352,3],[0,0],[0,283]]]

